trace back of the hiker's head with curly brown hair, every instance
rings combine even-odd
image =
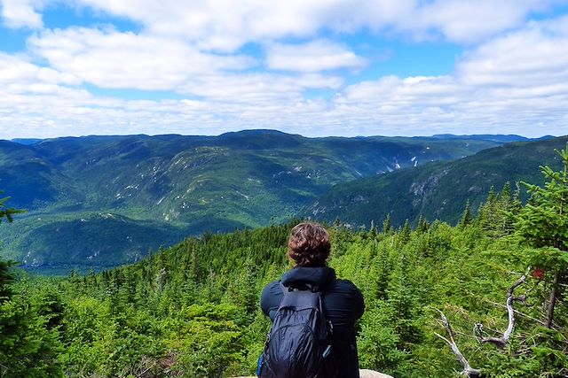
[[[331,244],[321,225],[304,222],[292,228],[288,240],[288,257],[296,266],[325,266]]]

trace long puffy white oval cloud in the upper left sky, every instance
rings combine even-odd
[[[55,69],[110,89],[176,89],[195,75],[254,64],[252,58],[203,53],[179,40],[84,27],[45,31],[28,44]]]

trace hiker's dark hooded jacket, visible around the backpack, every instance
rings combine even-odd
[[[330,267],[299,267],[282,275],[284,286],[301,287],[303,284],[318,286],[323,292],[322,302],[326,319],[334,326],[333,350],[339,360],[341,378],[359,378],[359,360],[355,339],[355,321],[365,305],[357,286],[347,280],[337,280]],[[284,293],[280,282],[269,283],[260,298],[260,307],[273,321]]]

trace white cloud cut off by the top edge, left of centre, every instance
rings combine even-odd
[[[77,4],[128,17],[149,33],[183,37],[206,50],[232,51],[250,41],[314,35],[323,16],[341,1],[76,0]]]

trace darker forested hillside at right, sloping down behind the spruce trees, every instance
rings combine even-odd
[[[499,191],[506,181],[513,189],[517,181],[543,182],[539,166],[559,166],[554,149],[563,149],[567,142],[568,136],[509,143],[454,161],[337,184],[303,214],[367,227],[372,221],[380,227],[388,213],[395,226],[415,222],[421,214],[427,220],[455,223],[466,202],[477,211],[492,186]]]

